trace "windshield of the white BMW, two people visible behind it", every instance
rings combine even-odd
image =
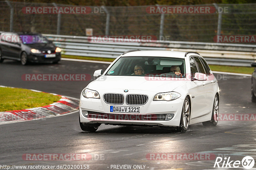
[[[121,57],[106,75],[183,78],[186,75],[185,60],[170,57]]]

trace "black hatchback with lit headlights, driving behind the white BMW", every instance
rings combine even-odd
[[[38,33],[1,32],[0,62],[4,59],[28,62],[58,63],[61,49]]]

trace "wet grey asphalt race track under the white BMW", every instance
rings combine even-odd
[[[60,64],[22,66],[5,60],[0,65],[0,85],[36,89],[79,98],[90,81],[23,81],[23,74],[93,74],[108,64],[61,61]],[[256,113],[250,99],[251,77],[215,74],[220,86],[220,114]],[[148,160],[150,153],[214,153],[215,156],[256,161],[255,121],[219,121],[216,127],[190,125],[186,133],[160,127],[101,125],[96,133],[82,132],[78,112],[35,121],[0,125],[0,165],[145,165],[148,170],[217,169],[212,160]],[[91,160],[23,160],[27,153],[89,153]],[[99,158],[101,156],[101,158]],[[223,163],[223,162],[222,162]],[[221,164],[222,165],[222,164]],[[0,168],[1,169],[1,168]],[[69,168],[71,169],[71,168]],[[81,169],[81,168],[80,168]],[[221,169],[221,168],[219,168]],[[243,169],[240,165],[238,168]],[[256,169],[256,165],[252,169]]]

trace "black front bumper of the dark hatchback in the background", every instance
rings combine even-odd
[[[42,63],[52,63],[52,62],[60,61],[61,54],[60,53],[55,53],[55,54],[56,54],[56,57],[45,58],[44,57],[44,55],[45,55],[44,53],[41,53],[41,54],[30,53],[28,55],[28,60],[30,62],[36,62],[36,63],[39,63],[39,62],[42,62]]]

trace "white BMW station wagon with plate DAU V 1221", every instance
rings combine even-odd
[[[190,124],[215,126],[219,86],[196,52],[130,50],[113,61],[80,96],[79,124],[169,126],[185,132]]]

